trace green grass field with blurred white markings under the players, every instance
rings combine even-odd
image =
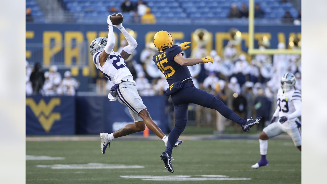
[[[186,140],[173,150],[174,173],[164,169],[159,157],[163,151],[160,140],[114,140],[105,155],[100,140],[26,141],[26,155],[64,157],[27,160],[26,156],[26,183],[301,183],[301,152],[291,139],[269,140],[269,166],[259,169],[251,169],[260,158],[259,142],[254,139]],[[105,168],[117,165],[141,168]],[[240,178],[247,179],[234,180]]]

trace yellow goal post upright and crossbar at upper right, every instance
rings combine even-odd
[[[254,49],[254,0],[249,0],[249,49],[248,54],[301,54],[301,49]]]

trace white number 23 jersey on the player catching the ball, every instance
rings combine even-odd
[[[128,79],[134,82],[133,76],[125,64],[125,60],[118,52],[111,52],[106,63],[100,66],[99,58],[102,51],[98,51],[93,55],[93,63],[95,67],[106,76],[113,84],[121,83],[121,80]],[[127,81],[127,80],[126,80]]]

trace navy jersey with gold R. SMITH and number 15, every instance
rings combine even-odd
[[[181,52],[181,47],[174,45],[161,52],[157,52],[153,56],[152,60],[156,64],[157,68],[163,72],[169,85],[192,77],[187,66],[182,66],[176,63],[174,60],[175,56]]]

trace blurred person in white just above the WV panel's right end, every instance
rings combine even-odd
[[[64,76],[65,78],[61,82],[63,95],[75,96],[79,82],[75,78],[71,77],[70,71],[65,71]]]

